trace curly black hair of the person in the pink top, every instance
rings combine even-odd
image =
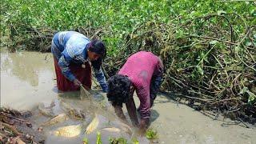
[[[115,74],[108,81],[108,92],[106,97],[113,106],[122,106],[122,103],[128,102],[130,95],[130,79],[121,74]]]

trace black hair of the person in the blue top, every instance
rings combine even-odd
[[[98,39],[90,42],[89,50],[96,54],[102,55],[102,58],[106,57],[106,46],[102,41],[99,41]]]

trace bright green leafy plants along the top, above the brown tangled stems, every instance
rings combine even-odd
[[[13,27],[16,39],[30,38],[30,27],[50,30],[75,30],[78,27],[107,27],[102,38],[110,51],[116,52],[126,34],[134,26],[148,20],[180,25],[191,18],[234,12],[255,24],[255,2],[217,2],[213,0],[3,0],[1,32]],[[241,29],[242,27],[238,27]],[[8,31],[7,31],[8,32]],[[10,32],[10,31],[9,31]],[[179,30],[182,34],[182,30]],[[6,33],[4,33],[6,35]],[[24,42],[23,42],[24,43]],[[23,46],[22,49],[32,49]]]

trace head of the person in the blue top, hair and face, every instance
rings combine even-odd
[[[106,56],[106,46],[102,41],[94,40],[90,42],[88,48],[88,58],[90,61],[96,61],[98,58]]]

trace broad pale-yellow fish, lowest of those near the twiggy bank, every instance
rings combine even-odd
[[[81,134],[81,131],[82,131],[82,124],[63,126],[58,128],[58,130],[55,130],[54,135],[62,136],[66,138],[73,138]]]

